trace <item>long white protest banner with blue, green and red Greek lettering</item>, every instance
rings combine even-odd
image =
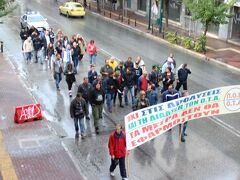
[[[157,104],[125,116],[127,149],[193,119],[240,112],[240,85],[206,90]]]

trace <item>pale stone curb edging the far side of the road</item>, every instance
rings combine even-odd
[[[188,54],[188,55],[194,56],[194,57],[199,58],[199,59],[204,60],[204,61],[214,62],[214,63],[217,63],[217,64],[219,64],[219,65],[225,66],[225,67],[227,67],[228,69],[232,69],[232,70],[235,70],[235,71],[237,71],[237,72],[240,72],[240,69],[239,69],[239,68],[234,67],[234,66],[232,66],[232,65],[229,65],[229,64],[226,64],[226,63],[224,63],[224,62],[218,61],[218,60],[216,60],[216,59],[214,59],[214,58],[208,58],[206,55],[203,55],[203,54],[200,54],[200,53],[191,51],[191,50],[189,50],[189,49],[185,49],[184,47],[181,47],[181,46],[178,46],[178,45],[175,45],[175,44],[171,44],[171,43],[168,42],[167,40],[164,40],[164,39],[162,39],[162,38],[160,38],[160,37],[154,36],[154,35],[152,35],[152,34],[150,34],[150,33],[143,32],[143,31],[141,31],[141,30],[139,30],[139,29],[135,29],[134,27],[131,27],[131,26],[127,25],[127,24],[123,24],[123,23],[118,22],[118,21],[116,21],[116,20],[112,20],[112,19],[110,19],[110,18],[108,18],[108,17],[105,17],[105,16],[102,16],[102,15],[96,13],[96,12],[93,12],[93,11],[90,11],[90,10],[87,10],[87,12],[88,12],[88,13],[91,13],[92,15],[94,15],[94,16],[96,16],[96,17],[100,17],[100,18],[104,19],[105,21],[108,21],[108,22],[111,22],[111,23],[113,23],[113,24],[115,24],[115,25],[118,25],[119,27],[123,27],[123,28],[125,28],[125,29],[128,29],[128,30],[130,30],[131,32],[134,32],[134,33],[139,34],[139,35],[143,35],[143,36],[145,36],[145,37],[147,37],[147,38],[149,38],[149,39],[152,39],[152,40],[154,40],[154,41],[157,41],[157,42],[159,42],[159,43],[162,43],[162,44],[164,44],[164,45],[166,45],[166,46],[168,46],[168,47],[171,47],[171,48],[174,48],[174,49],[178,49],[178,50],[180,50],[180,51],[182,51],[182,52],[184,51],[184,52],[185,52],[186,54]]]

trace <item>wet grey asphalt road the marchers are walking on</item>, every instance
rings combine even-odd
[[[28,90],[42,104],[44,115],[52,122],[54,131],[63,138],[82,174],[88,179],[111,179],[108,174],[110,159],[107,141],[116,122],[123,122],[124,114],[131,109],[113,109],[102,121],[101,134],[96,137],[93,122],[86,122],[88,138],[74,139],[74,126],[69,116],[70,99],[65,79],[61,92],[56,92],[54,80],[46,65],[29,64],[23,61],[19,38],[19,18],[26,10],[40,11],[56,30],[67,35],[80,33],[85,39],[94,39],[100,53],[97,69],[104,59],[115,56],[126,60],[128,56],[142,56],[150,70],[152,64],[162,62],[174,52],[177,64],[187,62],[192,70],[189,77],[190,93],[225,85],[239,84],[239,73],[230,69],[189,56],[186,52],[171,49],[159,42],[147,39],[129,30],[106,22],[87,13],[84,19],[60,16],[55,1],[21,1],[20,7],[3,19],[0,39],[20,78]],[[77,83],[82,82],[88,70],[87,56],[79,65]],[[130,179],[240,179],[240,122],[239,114],[205,118],[189,123],[186,143],[179,143],[178,128],[133,150],[129,157]],[[222,123],[224,122],[224,123]],[[120,179],[118,169],[116,178]],[[114,178],[113,178],[114,179]]]

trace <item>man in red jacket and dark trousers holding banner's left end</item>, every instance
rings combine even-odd
[[[121,124],[117,124],[116,130],[111,133],[108,141],[108,149],[111,156],[110,175],[114,176],[114,170],[119,164],[122,179],[127,180],[125,168],[126,135],[122,130]]]

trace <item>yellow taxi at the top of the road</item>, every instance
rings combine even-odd
[[[66,2],[63,5],[59,6],[59,13],[66,15],[67,17],[84,17],[85,9],[81,3],[78,2]]]

